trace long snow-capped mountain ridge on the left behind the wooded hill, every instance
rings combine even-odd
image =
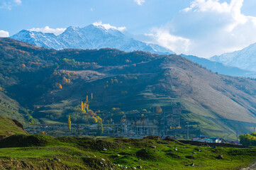
[[[114,28],[106,29],[103,26],[89,25],[84,28],[68,27],[64,33],[54,35],[52,33],[41,33],[30,30],[11,36],[15,40],[29,42],[40,47],[62,50],[66,48],[78,49],[100,49],[116,48],[126,52],[142,50],[155,54],[173,54],[171,50],[159,45],[147,44],[138,40],[128,38],[119,30]]]

